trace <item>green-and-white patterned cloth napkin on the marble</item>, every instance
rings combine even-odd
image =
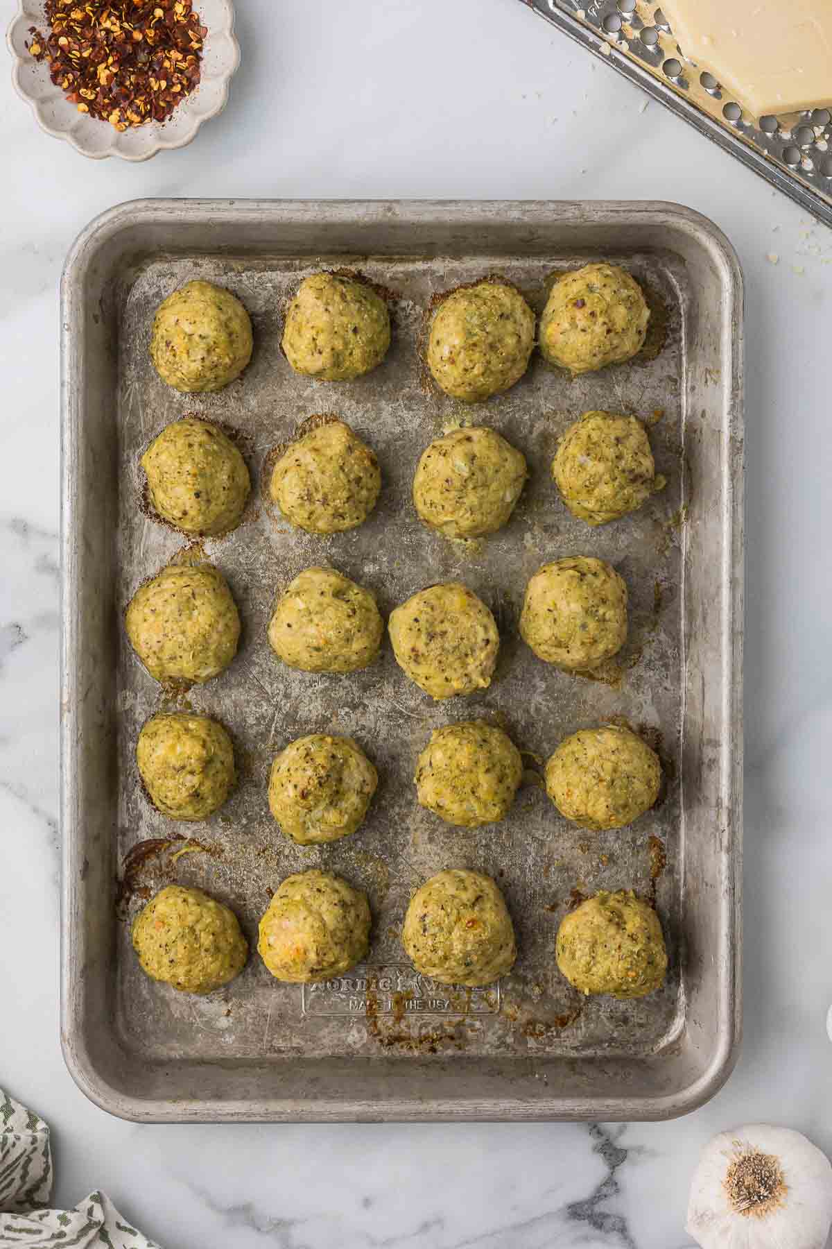
[[[90,1193],[71,1210],[47,1209],[51,1194],[49,1125],[0,1089],[0,1249],[158,1249],[104,1193]]]

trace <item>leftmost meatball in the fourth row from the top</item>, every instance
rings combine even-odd
[[[231,738],[210,716],[152,716],[138,734],[136,763],[151,802],[171,819],[206,819],[235,783]]]

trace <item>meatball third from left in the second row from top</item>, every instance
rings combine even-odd
[[[483,426],[454,430],[422,452],[415,510],[449,538],[495,533],[511,516],[528,476],[525,457]]]

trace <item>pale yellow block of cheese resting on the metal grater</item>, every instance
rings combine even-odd
[[[832,104],[832,0],[662,0],[685,56],[752,116]]]

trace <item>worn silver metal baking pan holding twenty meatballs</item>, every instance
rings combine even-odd
[[[508,395],[474,410],[433,386],[419,348],[437,292],[500,274],[540,309],[553,274],[599,256],[647,290],[654,332],[640,358],[570,381],[535,357]],[[393,347],[359,382],[297,377],[279,351],[286,297],[322,266],[356,269],[389,294]],[[196,275],[239,295],[256,351],[226,391],[183,397],[155,376],[147,342],[155,306]],[[62,1037],[84,1092],[145,1120],[646,1119],[711,1097],[740,1035],[742,759],[742,282],[718,230],[672,204],[138,201],[72,247],[62,348]],[[590,407],[651,421],[669,478],[641,512],[600,530],[566,512],[548,472],[559,433]],[[121,624],[140,581],[183,546],[142,510],[137,457],[185,411],[236,428],[254,481],[243,525],[202,547],[239,605],[241,651],[187,696],[230,727],[241,779],[186,828],[138,784],[136,734],[163,698]],[[368,523],[327,540],[291,532],[261,492],[272,448],[317,412],[349,421],[384,477]],[[531,467],[511,522],[468,545],[424,530],[409,501],[422,448],[467,420],[499,428]],[[550,669],[518,636],[528,577],[568,553],[606,557],[630,586],[630,638],[604,681]],[[277,588],[309,563],[370,587],[384,613],[424,585],[465,581],[501,631],[491,687],[433,703],[388,643],[348,678],[282,667],[266,622]],[[432,728],[472,716],[505,724],[529,769],[504,823],[467,831],[419,808],[412,776]],[[539,762],[568,732],[612,717],[656,742],[665,793],[630,828],[581,833],[546,799]],[[271,819],[267,776],[282,744],[321,729],[354,736],[380,784],[359,833],[303,849]],[[183,833],[191,843],[176,841]],[[269,891],[318,864],[370,899],[369,962],[351,975],[302,990],[252,953],[237,980],[198,999],[138,970],[128,921],[162,883],[228,902],[253,943]],[[408,896],[449,866],[483,869],[505,892],[520,957],[499,989],[455,993],[403,958]],[[558,923],[576,892],[621,887],[655,898],[667,983],[639,1002],[584,1000],[554,965]]]

